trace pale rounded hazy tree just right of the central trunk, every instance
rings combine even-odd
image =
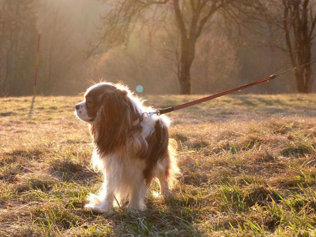
[[[212,38],[201,37],[192,66],[194,90],[199,93],[226,90],[238,86],[236,72],[240,70],[237,48],[224,34],[214,32]]]

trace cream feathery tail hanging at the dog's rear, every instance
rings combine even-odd
[[[177,141],[170,138],[169,144],[168,144],[168,155],[169,155],[170,162],[166,170],[166,176],[168,178],[170,187],[172,187],[175,184],[177,180],[177,176],[180,173],[180,169],[177,165],[177,158],[176,158],[177,147],[178,147]]]

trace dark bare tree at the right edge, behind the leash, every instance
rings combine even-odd
[[[292,67],[312,60],[312,46],[316,37],[315,0],[260,0],[261,8],[249,17],[255,23],[266,24],[271,37],[265,35],[263,44],[286,53]],[[254,28],[257,28],[256,25]],[[252,29],[254,29],[252,28]],[[295,71],[298,92],[313,89],[311,65]]]

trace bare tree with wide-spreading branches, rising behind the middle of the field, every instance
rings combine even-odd
[[[180,93],[191,93],[191,66],[195,58],[196,43],[206,23],[221,9],[239,7],[246,0],[104,0],[112,8],[102,18],[99,42],[92,52],[105,44],[111,48],[126,43],[130,34],[149,19],[172,16],[180,33],[180,60],[178,81]],[[251,1],[249,1],[251,2]],[[159,9],[158,9],[159,8]],[[157,10],[158,9],[158,10]],[[169,19],[169,18],[168,18]],[[163,24],[168,24],[163,21]]]

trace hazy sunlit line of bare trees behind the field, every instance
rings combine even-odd
[[[316,57],[315,0],[0,0],[0,95],[74,95],[122,80],[213,93]],[[315,66],[257,93],[312,92]]]

